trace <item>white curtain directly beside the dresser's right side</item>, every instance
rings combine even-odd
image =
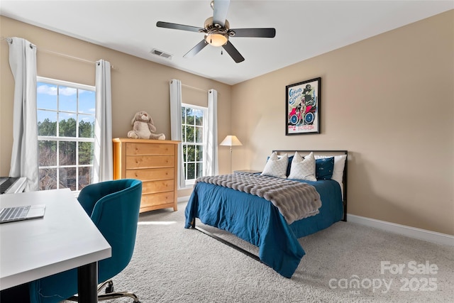
[[[182,82],[170,80],[170,139],[182,141]],[[186,187],[184,179],[183,148],[178,144],[178,189]]]

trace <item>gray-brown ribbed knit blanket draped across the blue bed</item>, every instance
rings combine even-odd
[[[238,172],[199,177],[196,182],[216,184],[267,199],[279,209],[287,224],[319,214],[321,207],[319,192],[302,182]]]

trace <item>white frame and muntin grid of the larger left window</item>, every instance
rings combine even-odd
[[[80,190],[83,188],[79,188],[79,168],[81,167],[92,167],[92,170],[91,170],[91,174],[90,174],[90,179],[89,179],[89,183],[88,184],[91,184],[92,181],[93,181],[93,172],[95,170],[95,165],[96,165],[96,161],[94,161],[94,159],[96,158],[96,155],[94,155],[94,148],[93,148],[93,154],[92,154],[92,162],[91,164],[79,164],[79,143],[82,143],[82,142],[89,142],[89,143],[92,143],[93,144],[93,147],[94,147],[94,143],[95,143],[95,135],[93,133],[93,137],[92,138],[87,138],[87,137],[79,137],[79,114],[84,114],[84,115],[87,115],[87,116],[92,116],[94,118],[94,121],[96,123],[96,110],[94,111],[93,114],[89,114],[89,113],[82,113],[79,111],[79,90],[84,90],[84,91],[89,91],[89,92],[94,92],[95,96],[96,96],[96,87],[95,86],[92,86],[92,85],[87,85],[87,84],[79,84],[79,83],[75,83],[75,82],[69,82],[69,81],[64,81],[64,80],[60,80],[60,79],[52,79],[52,78],[48,78],[48,77],[41,77],[41,76],[37,76],[36,77],[36,82],[37,84],[38,83],[45,83],[45,84],[50,84],[50,85],[56,85],[57,87],[58,86],[62,86],[62,87],[70,87],[70,88],[74,88],[74,89],[77,89],[77,107],[76,107],[76,111],[75,111],[75,115],[77,116],[77,119],[76,120],[76,136],[75,137],[67,137],[67,136],[60,136],[60,119],[59,119],[59,114],[60,113],[63,113],[63,114],[74,114],[74,111],[65,111],[65,110],[61,110],[59,109],[59,102],[58,102],[58,99],[59,99],[59,95],[57,94],[57,109],[56,110],[53,110],[53,109],[42,109],[42,108],[38,108],[38,102],[37,102],[37,106],[36,106],[36,114],[38,115],[38,111],[50,111],[50,112],[56,112],[57,113],[57,126],[56,126],[56,133],[55,133],[55,136],[40,136],[38,135],[38,143],[39,141],[55,141],[56,142],[56,150],[55,150],[55,154],[56,154],[56,165],[39,165],[38,166],[38,170],[41,170],[41,169],[45,169],[45,168],[50,168],[50,169],[56,169],[57,171],[57,189],[60,189],[60,188],[67,188],[67,187],[60,187],[60,168],[72,168],[74,167],[75,170],[76,170],[76,174],[75,174],[75,190],[72,190],[72,192],[74,194],[79,194]],[[38,85],[37,85],[37,95],[38,95]],[[37,99],[38,99],[38,96],[37,96]],[[95,108],[96,108],[96,97],[95,97]],[[38,119],[37,119],[38,120]],[[37,121],[39,122],[39,121]],[[93,129],[93,132],[94,132],[94,129]],[[59,152],[60,152],[60,143],[61,142],[75,142],[76,143],[76,148],[75,148],[75,153],[76,153],[76,160],[75,160],[75,164],[74,165],[60,165],[60,157],[58,156],[59,155]],[[38,152],[39,152],[39,148],[38,148]],[[84,186],[87,186],[87,185],[84,185]],[[45,189],[39,189],[39,190],[45,190]]]

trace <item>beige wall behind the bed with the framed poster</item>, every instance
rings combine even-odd
[[[454,235],[454,11],[233,86],[233,167],[346,149],[348,212]],[[285,136],[285,86],[321,77],[321,134]]]

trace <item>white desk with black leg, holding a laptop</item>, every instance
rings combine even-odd
[[[0,224],[0,290],[79,268],[79,301],[96,302],[97,261],[111,257],[109,243],[70,189],[0,195],[1,207],[29,204],[45,204],[44,218]]]

